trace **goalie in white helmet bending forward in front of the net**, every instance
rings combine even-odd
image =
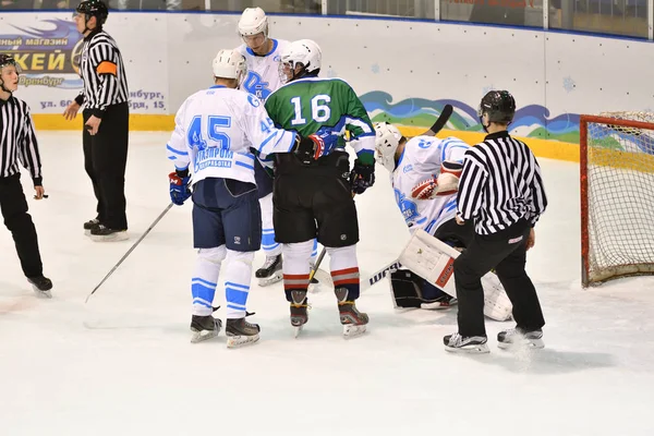
[[[396,203],[410,232],[423,229],[455,247],[465,247],[473,237],[470,225],[458,226],[458,177],[463,155],[470,148],[450,136],[415,136],[407,140],[387,122],[375,123],[375,158],[390,172]],[[399,307],[447,308],[456,304],[447,293],[408,269],[391,274]]]

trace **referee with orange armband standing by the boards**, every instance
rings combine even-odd
[[[80,75],[84,88],[64,111],[72,120],[82,105],[84,167],[98,201],[96,218],[84,223],[95,241],[128,238],[125,167],[130,130],[130,95],[124,64],[116,41],[102,29],[109,16],[100,0],[84,0],[75,24],[84,35]]]

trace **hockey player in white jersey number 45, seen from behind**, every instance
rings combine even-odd
[[[237,50],[220,50],[213,71],[215,85],[186,98],[177,112],[166,147],[175,167],[169,174],[170,197],[177,205],[193,197],[198,255],[191,281],[192,342],[220,330],[221,322],[211,313],[226,262],[227,344],[239,347],[257,341],[259,332],[258,325],[245,320],[252,261],[262,240],[254,162],[277,153],[311,161],[320,156],[325,143],[275,128],[256,96],[237,90],[245,75],[245,59]]]

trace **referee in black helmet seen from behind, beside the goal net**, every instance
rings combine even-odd
[[[492,269],[511,300],[517,323],[514,329],[498,334],[498,347],[543,347],[545,319],[524,265],[526,251],[535,241],[534,225],[545,211],[547,197],[536,158],[507,131],[514,113],[511,94],[486,94],[479,116],[488,135],[465,152],[457,222],[473,220],[475,234],[455,261],[459,331],[444,338],[448,351],[488,352],[481,278]]]

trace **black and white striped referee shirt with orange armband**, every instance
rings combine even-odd
[[[105,31],[94,31],[84,38],[80,75],[84,88],[75,101],[86,104],[86,109],[98,118],[102,118],[108,106],[125,102],[130,97],[122,56]]]

